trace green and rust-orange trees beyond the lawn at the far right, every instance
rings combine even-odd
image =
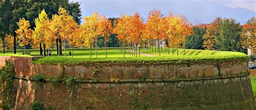
[[[255,17],[245,25],[240,25],[235,19],[218,17],[205,27],[194,26],[193,34],[187,37],[186,48],[236,52],[242,52],[242,48],[256,50],[255,28]]]

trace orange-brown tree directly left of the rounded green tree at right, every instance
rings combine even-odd
[[[207,50],[215,49],[215,37],[219,35],[219,25],[221,23],[221,18],[216,18],[210,25],[207,27],[206,34],[203,36],[203,47]]]

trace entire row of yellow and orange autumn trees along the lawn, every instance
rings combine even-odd
[[[107,57],[106,41],[113,33],[117,34],[117,38],[123,47],[124,56],[127,46],[129,47],[129,53],[134,53],[133,55],[137,56],[137,47],[139,48],[143,43],[148,47],[154,45],[155,51],[157,45],[160,56],[161,41],[171,42],[169,44],[172,49],[176,46],[178,50],[182,46],[185,55],[185,39],[187,35],[192,33],[191,25],[185,17],[175,16],[172,13],[163,17],[163,14],[156,9],[150,11],[146,23],[138,12],[133,16],[122,14],[114,23],[98,12],[94,12],[84,19],[84,24],[79,26],[68,11],[62,7],[59,8],[58,14],[53,14],[52,19],[49,19],[48,14],[43,10],[35,19],[36,27],[33,31],[29,21],[22,18],[17,23],[19,28],[16,30],[19,45],[24,47],[25,53],[25,46],[32,44],[33,48],[41,48],[42,44],[44,56],[45,48],[54,46],[55,41],[58,56],[61,55],[62,42],[64,42],[64,56],[66,56],[66,42],[72,48],[72,53],[73,47],[90,47],[91,49],[95,46],[97,57],[97,39],[99,36],[103,36]],[[132,49],[132,47],[136,49]],[[168,47],[170,54],[170,46]]]

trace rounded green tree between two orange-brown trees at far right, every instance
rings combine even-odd
[[[224,51],[241,51],[240,23],[234,19],[224,19],[219,26],[219,35],[216,36],[216,47]]]

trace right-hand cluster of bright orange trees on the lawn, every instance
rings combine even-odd
[[[133,46],[137,48],[144,43],[147,47],[150,47],[152,51],[153,48],[151,48],[151,46],[155,46],[155,51],[157,46],[157,51],[160,56],[160,42],[162,41],[171,42],[169,45],[166,43],[167,47],[169,47],[169,54],[170,47],[172,47],[172,54],[174,54],[173,47],[176,46],[178,50],[181,46],[185,55],[185,38],[192,33],[192,30],[191,24],[185,17],[176,16],[172,13],[164,17],[160,10],[154,9],[150,11],[145,24],[138,12],[133,16],[125,16],[122,14],[114,24],[113,33],[118,35],[117,38],[120,43],[122,43],[123,49],[129,46],[129,52],[130,47]],[[137,56],[137,49],[135,50],[135,55]]]

